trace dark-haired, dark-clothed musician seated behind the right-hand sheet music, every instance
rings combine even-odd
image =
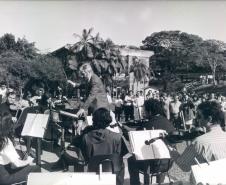
[[[145,115],[148,122],[145,125],[147,130],[162,129],[168,134],[175,129],[171,122],[164,116],[164,109],[161,102],[156,99],[148,99],[144,102]],[[147,170],[149,164],[145,161],[137,161],[134,156],[128,158],[128,170],[130,174],[130,185],[139,185],[139,170]],[[157,176],[157,183],[164,181],[164,175]]]

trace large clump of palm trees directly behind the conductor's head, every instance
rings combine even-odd
[[[120,52],[111,39],[105,41],[97,33],[92,36],[93,28],[84,29],[82,35],[73,34],[79,41],[70,50],[75,53],[76,59],[69,61],[69,67],[76,70],[79,63],[89,60],[94,72],[103,79],[107,85],[113,83],[117,69],[124,69],[120,60]]]

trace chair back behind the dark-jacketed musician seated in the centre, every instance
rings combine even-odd
[[[90,158],[88,162],[89,172],[99,172],[99,166],[102,165],[103,172],[117,173],[121,170],[123,159],[119,154],[97,155]]]

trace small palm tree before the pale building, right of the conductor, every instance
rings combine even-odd
[[[133,89],[135,82],[137,82],[138,89],[138,83],[143,81],[145,84],[145,81],[149,76],[148,67],[143,62],[138,60],[137,57],[134,58],[133,64],[130,66],[130,72],[133,72],[134,74]]]

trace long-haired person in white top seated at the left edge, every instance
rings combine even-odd
[[[10,139],[12,135],[12,119],[8,112],[0,110],[0,184],[8,185],[26,181],[30,172],[40,171],[31,166],[33,158],[21,160]]]

